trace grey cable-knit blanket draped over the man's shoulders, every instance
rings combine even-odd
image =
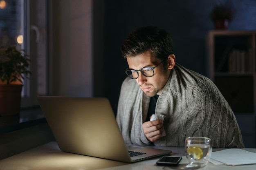
[[[150,145],[142,130],[150,97],[127,77],[117,109],[117,123],[127,144]],[[229,104],[210,79],[176,63],[157,100],[155,114],[165,116],[166,136],[156,146],[184,146],[186,137],[209,137],[213,148],[244,148]]]

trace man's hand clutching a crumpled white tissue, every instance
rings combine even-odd
[[[142,129],[149,141],[157,141],[163,132],[163,122],[161,119],[146,121],[142,124]]]

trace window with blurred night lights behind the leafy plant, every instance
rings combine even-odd
[[[22,108],[36,105],[36,96],[47,94],[47,4],[48,0],[0,0],[0,45],[24,49],[31,59]]]

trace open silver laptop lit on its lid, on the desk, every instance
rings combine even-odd
[[[37,96],[37,100],[63,152],[127,163],[172,152],[126,146],[106,98]],[[139,155],[130,156],[129,152]]]

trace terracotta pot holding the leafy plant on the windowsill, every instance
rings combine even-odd
[[[0,116],[20,114],[21,84],[0,84]]]

